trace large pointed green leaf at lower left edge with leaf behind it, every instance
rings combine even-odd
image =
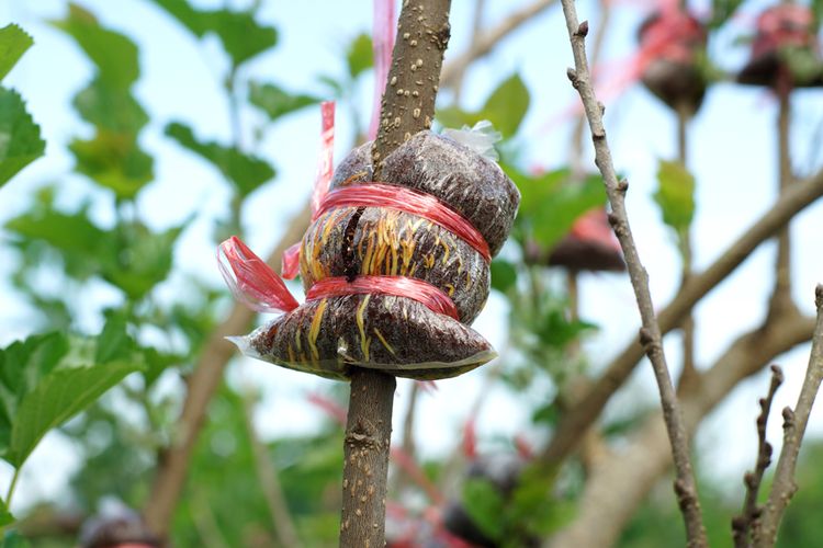
[[[48,431],[144,368],[134,341],[124,332],[120,323],[106,326],[97,338],[34,335],[0,350],[2,458],[20,468]],[[99,362],[95,356],[109,359]]]

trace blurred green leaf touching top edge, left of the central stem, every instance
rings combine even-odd
[[[253,11],[207,11],[196,10],[185,0],[153,1],[195,36],[203,37],[207,33],[216,34],[232,58],[234,67],[274,47],[278,43],[277,28],[259,24]]]

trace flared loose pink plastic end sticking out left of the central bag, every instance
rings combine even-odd
[[[300,306],[280,276],[239,238],[217,249],[217,264],[235,298],[258,312],[290,312]]]

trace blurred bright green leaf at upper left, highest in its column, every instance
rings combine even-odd
[[[128,89],[137,80],[137,46],[126,36],[100,26],[91,12],[70,3],[68,16],[52,24],[75,38],[108,85]]]

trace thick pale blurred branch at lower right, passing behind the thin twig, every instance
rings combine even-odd
[[[813,329],[813,318],[786,313],[769,316],[762,327],[739,336],[683,393],[688,434],[695,433],[700,421],[741,380],[807,342]],[[619,452],[598,458],[580,495],[575,521],[552,539],[552,548],[615,545],[649,491],[672,466],[666,437],[657,412],[646,418]]]

